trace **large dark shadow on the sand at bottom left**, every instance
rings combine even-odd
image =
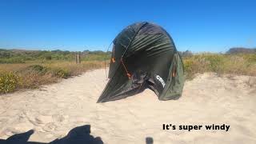
[[[6,140],[0,139],[0,144],[46,144],[43,142],[27,142],[30,136],[34,134],[34,130],[29,130],[22,134],[14,134]],[[103,144],[100,137],[94,138],[90,135],[90,125],[78,126],[70,130],[66,137],[55,139],[49,144]]]

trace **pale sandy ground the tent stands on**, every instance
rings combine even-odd
[[[115,102],[96,103],[106,85],[94,70],[40,90],[0,97],[0,138],[34,129],[30,141],[50,142],[90,124],[105,143],[256,143],[255,78],[201,74],[186,82],[182,98],[161,102],[151,90]],[[162,130],[162,124],[226,124],[230,130]]]

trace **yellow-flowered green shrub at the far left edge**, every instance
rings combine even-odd
[[[18,85],[18,76],[12,72],[0,73],[0,94],[10,93]]]

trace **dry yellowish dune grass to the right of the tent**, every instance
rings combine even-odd
[[[205,72],[256,76],[256,54],[194,54],[183,63],[186,78]]]

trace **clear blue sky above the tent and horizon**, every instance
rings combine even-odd
[[[178,50],[256,47],[254,0],[1,0],[0,48],[106,50],[140,21],[165,28]]]

